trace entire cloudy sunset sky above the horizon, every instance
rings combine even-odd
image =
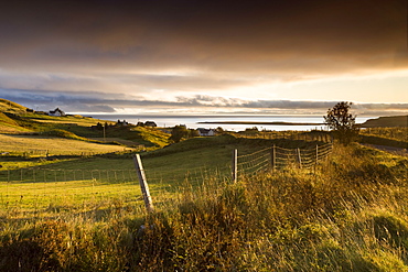
[[[1,1],[0,98],[131,115],[408,113],[406,0]]]

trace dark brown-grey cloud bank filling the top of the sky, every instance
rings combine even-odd
[[[9,67],[334,73],[406,58],[400,0],[30,1],[0,9],[0,59]]]

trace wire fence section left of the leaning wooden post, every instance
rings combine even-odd
[[[0,215],[39,216],[71,213],[84,206],[136,202],[140,198],[135,170],[0,171]]]

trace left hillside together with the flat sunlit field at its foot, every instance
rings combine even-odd
[[[154,150],[168,145],[169,134],[159,129],[108,127],[104,131],[92,129],[98,122],[115,124],[82,116],[51,117],[29,112],[25,107],[0,100],[0,152],[21,156],[84,155],[137,150]],[[97,139],[97,140],[95,140]],[[106,142],[106,140],[115,141]],[[101,144],[104,143],[104,144]],[[124,145],[124,146],[120,146]],[[0,163],[3,160],[0,159]],[[2,165],[9,167],[9,162]],[[26,166],[41,163],[22,163]],[[15,166],[21,163],[15,164]]]

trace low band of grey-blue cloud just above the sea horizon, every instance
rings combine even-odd
[[[292,100],[245,100],[237,98],[213,97],[198,95],[194,97],[178,97],[174,101],[161,101],[142,97],[129,97],[125,94],[103,94],[82,91],[66,95],[46,90],[3,90],[0,97],[17,101],[35,110],[50,110],[56,107],[67,112],[106,112],[115,113],[121,108],[164,109],[213,109],[212,112],[223,112],[221,109],[234,109],[240,113],[325,113],[336,101],[292,101]],[[358,115],[406,115],[408,104],[354,104],[352,109]],[[256,110],[256,111],[254,111]]]

